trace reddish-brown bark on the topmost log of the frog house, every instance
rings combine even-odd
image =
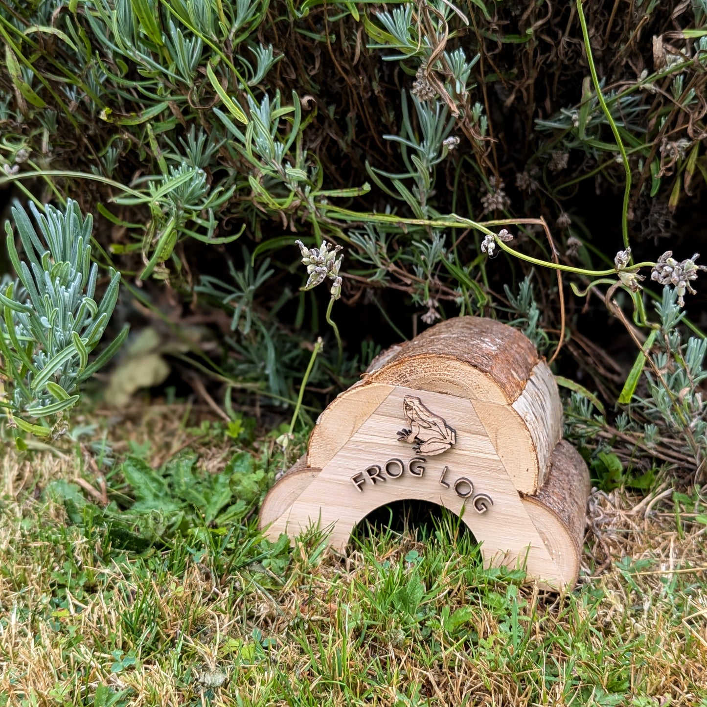
[[[382,354],[385,363],[373,361],[370,380],[391,382],[380,376],[384,369],[397,368],[414,356],[438,356],[456,359],[488,374],[500,387],[507,402],[514,402],[539,361],[532,342],[518,329],[484,317],[454,317],[419,334],[412,341],[397,346],[392,356]],[[380,358],[380,357],[379,357]],[[415,386],[411,386],[415,387]]]

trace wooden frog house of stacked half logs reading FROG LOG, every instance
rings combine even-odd
[[[431,501],[462,518],[487,564],[566,590],[589,491],[544,358],[518,329],[457,317],[384,351],[329,404],[260,526],[272,539],[319,526],[344,551],[375,508]]]

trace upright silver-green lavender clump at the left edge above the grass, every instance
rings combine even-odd
[[[0,409],[11,426],[40,436],[56,434],[62,414],[78,402],[78,387],[110,359],[125,329],[89,365],[118,297],[120,275],[110,269],[100,303],[98,265],[91,264],[93,218],[69,200],[60,211],[40,214],[30,204],[42,238],[21,206],[12,209],[24,259],[6,222],[7,249],[18,279],[5,277],[0,291]],[[38,419],[39,423],[31,422]]]

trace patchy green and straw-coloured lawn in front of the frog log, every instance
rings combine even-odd
[[[123,425],[116,456],[163,462],[193,437],[182,414]],[[214,471],[229,445],[192,447]],[[118,551],[44,493],[95,481],[81,457],[30,454],[0,462],[0,705],[707,705],[697,492],[645,518],[595,493],[583,578],[559,597],[484,569],[454,518],[362,533],[346,558],[317,532],[271,544],[254,516]]]

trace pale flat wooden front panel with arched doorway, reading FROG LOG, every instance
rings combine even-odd
[[[406,395],[419,396],[430,410],[444,411],[445,419],[455,428],[457,443],[443,454],[426,458],[422,477],[414,477],[406,470],[397,479],[377,479],[375,483],[370,479],[364,481],[363,489],[359,490],[351,477],[365,472],[368,465],[383,466],[393,457],[405,464],[416,456],[411,445],[396,441]],[[448,467],[444,478],[450,488],[439,482],[444,467]],[[397,467],[394,465],[392,469],[395,471]],[[542,578],[547,586],[564,588],[568,584],[566,566],[560,566],[553,559],[548,545],[559,547],[561,551],[554,549],[554,552],[559,561],[566,563],[563,553],[574,547],[573,542],[552,537],[552,542],[546,544],[543,540],[541,532],[547,539],[549,534],[563,532],[564,526],[554,520],[554,514],[549,516],[549,521],[536,519],[534,522],[531,513],[539,514],[534,508],[529,512],[528,504],[521,500],[468,399],[398,387],[306,488],[300,483],[301,474],[303,472],[298,472],[294,477],[296,481],[291,482],[297,489],[287,496],[296,496],[296,499],[287,510],[277,518],[261,515],[262,525],[272,522],[269,537],[275,538],[281,532],[298,534],[310,525],[319,525],[325,530],[331,527],[330,542],[334,547],[344,549],[351,531],[370,511],[392,501],[419,498],[446,506],[461,515],[474,537],[482,543],[481,549],[488,563],[513,566],[525,561],[530,575]],[[459,477],[467,477],[473,482],[474,494],[488,494],[493,499],[493,506],[486,513],[477,513],[469,499],[457,496],[453,484]],[[285,484],[287,480],[286,475],[279,483]],[[460,490],[467,490],[465,482]],[[287,504],[272,502],[278,510],[284,505]],[[541,527],[540,531],[536,523]],[[577,563],[575,558],[572,571]]]

